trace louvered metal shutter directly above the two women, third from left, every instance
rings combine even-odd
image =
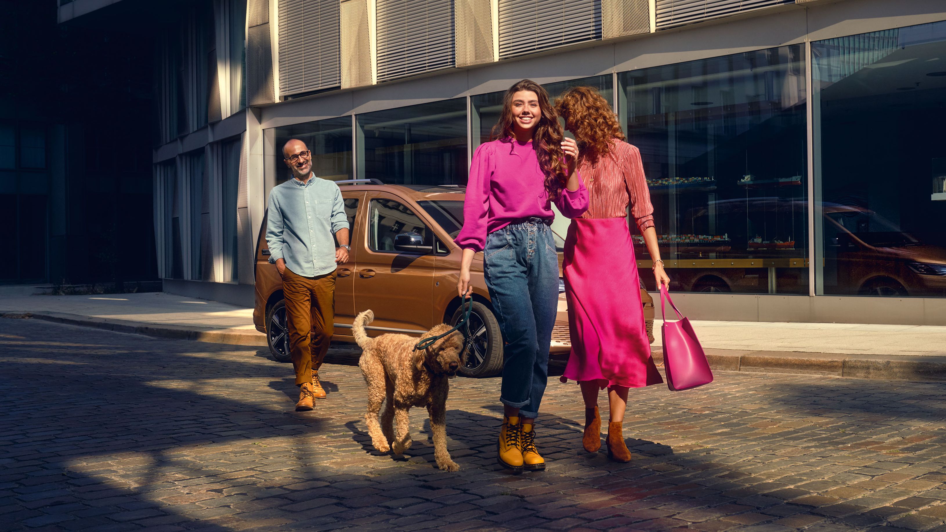
[[[601,39],[601,0],[499,0],[499,57]]]

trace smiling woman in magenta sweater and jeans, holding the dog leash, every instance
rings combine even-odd
[[[505,339],[499,400],[498,460],[514,471],[544,470],[535,448],[535,417],[548,381],[549,346],[558,300],[558,257],[551,203],[569,218],[587,209],[574,171],[578,149],[564,138],[549,95],[521,80],[502,98],[494,140],[473,155],[457,244],[457,281],[470,293],[470,264],[483,252],[483,276]]]

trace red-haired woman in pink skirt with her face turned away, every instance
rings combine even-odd
[[[565,240],[565,293],[569,301],[571,353],[562,381],[578,381],[585,399],[587,452],[601,448],[598,392],[608,390],[607,454],[631,459],[622,435],[628,388],[663,380],[651,358],[640,304],[627,206],[654,259],[657,286],[670,283],[663,271],[654,207],[640,151],[624,142],[607,101],[591,87],[574,87],[555,102],[565,127],[581,149],[578,170],[588,189],[588,208],[572,220]],[[631,287],[634,290],[629,290]]]

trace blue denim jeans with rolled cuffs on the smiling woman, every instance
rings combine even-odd
[[[549,346],[558,310],[558,256],[541,219],[490,233],[483,275],[505,340],[499,400],[537,417],[549,380]]]

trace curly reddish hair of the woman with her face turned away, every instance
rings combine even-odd
[[[571,87],[555,100],[555,111],[575,135],[579,157],[588,163],[607,155],[613,139],[624,140],[617,115],[593,87]]]

